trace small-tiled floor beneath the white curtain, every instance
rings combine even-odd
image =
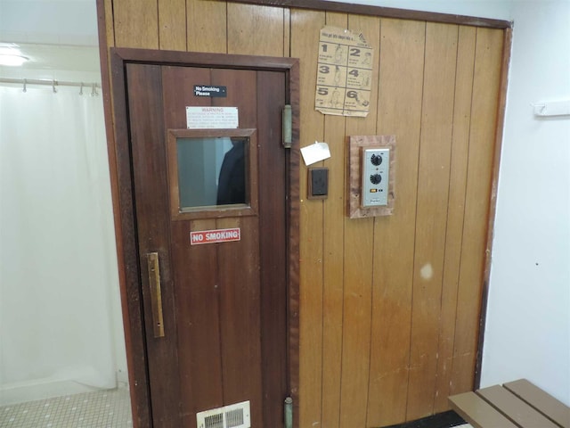
[[[132,428],[126,389],[0,407],[0,428]]]

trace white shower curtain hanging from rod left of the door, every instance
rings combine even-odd
[[[120,320],[102,96],[27,89],[0,86],[0,390],[112,388]]]

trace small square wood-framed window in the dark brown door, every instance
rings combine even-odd
[[[168,181],[175,219],[256,213],[255,129],[171,129]]]

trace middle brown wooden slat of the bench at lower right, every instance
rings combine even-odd
[[[538,426],[541,428],[559,428],[557,424],[542,416],[541,413],[528,406],[525,401],[517,398],[516,395],[501,385],[490,386],[478,390],[476,393],[493,407],[500,409],[502,414],[521,428],[536,428]]]

